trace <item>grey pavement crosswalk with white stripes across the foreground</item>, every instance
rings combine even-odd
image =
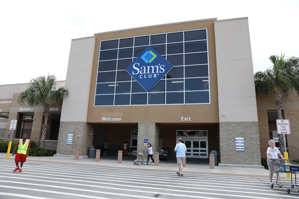
[[[175,165],[174,165],[175,166]],[[298,192],[270,188],[267,178],[110,169],[0,159],[0,198],[299,198]],[[290,180],[284,180],[290,183]],[[19,195],[18,195],[19,194]]]

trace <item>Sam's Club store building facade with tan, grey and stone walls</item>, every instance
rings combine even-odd
[[[61,114],[59,133],[49,134],[56,139],[58,155],[74,155],[80,148],[80,156],[86,156],[89,146],[100,148],[106,141],[111,153],[122,150],[125,141],[143,151],[147,141],[154,152],[169,150],[173,158],[179,137],[187,158],[207,159],[216,150],[222,165],[260,165],[266,155],[273,128],[268,121],[275,109],[255,95],[248,18],[186,21],[73,39],[66,80],[60,83],[69,96],[53,107]],[[3,95],[0,103],[9,113],[0,118],[4,140],[9,139],[10,120],[28,116],[20,110],[28,112],[29,107],[16,104],[17,92],[25,87],[18,89]],[[288,136],[297,138],[298,98],[293,100],[284,117],[294,119],[294,134]],[[33,107],[31,114],[35,141],[40,108]],[[291,157],[296,150],[289,148]]]

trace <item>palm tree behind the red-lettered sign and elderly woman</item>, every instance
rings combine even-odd
[[[277,118],[281,120],[283,99],[286,99],[293,90],[299,96],[299,58],[285,59],[284,54],[281,54],[281,56],[272,55],[269,59],[273,67],[254,74],[255,92],[261,96],[275,93],[274,103],[277,108]],[[281,152],[285,151],[282,134],[279,134],[279,147]]]

